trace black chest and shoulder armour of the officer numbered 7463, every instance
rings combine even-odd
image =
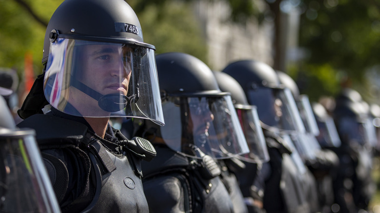
[[[135,147],[101,139],[84,124],[51,115],[36,114],[18,126],[36,130],[62,212],[149,211],[141,182],[144,155]],[[118,132],[115,136],[126,143]]]

